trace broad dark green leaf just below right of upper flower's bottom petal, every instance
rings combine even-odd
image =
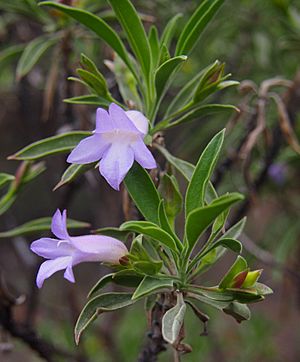
[[[159,194],[148,172],[136,162],[124,180],[130,197],[145,219],[159,225]]]

